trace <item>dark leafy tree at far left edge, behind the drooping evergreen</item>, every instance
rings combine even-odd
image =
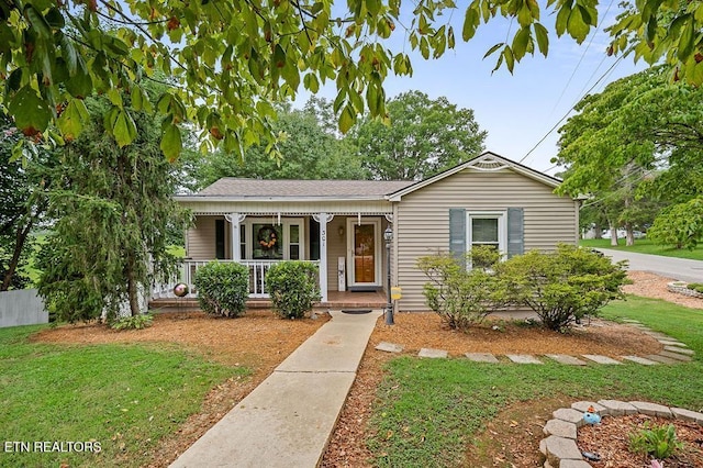
[[[47,168],[57,157],[43,147],[24,159],[14,157],[12,148],[23,136],[2,114],[0,132],[0,291],[7,291],[29,281],[22,267],[30,257],[31,232],[46,211]]]

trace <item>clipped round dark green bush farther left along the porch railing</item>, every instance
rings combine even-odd
[[[249,296],[249,269],[244,265],[210,261],[198,268],[193,282],[203,311],[230,317],[244,313]]]

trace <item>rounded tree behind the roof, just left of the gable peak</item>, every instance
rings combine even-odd
[[[487,132],[471,109],[446,98],[410,91],[388,102],[390,125],[366,119],[356,131],[362,160],[373,179],[420,180],[479,155]]]

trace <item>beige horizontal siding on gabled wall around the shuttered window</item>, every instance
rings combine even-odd
[[[551,250],[558,243],[578,241],[578,210],[573,200],[510,169],[481,172],[465,169],[411,192],[398,204],[395,222],[400,252],[397,282],[403,288],[401,311],[426,310],[425,276],[419,257],[449,249],[449,209],[468,211],[524,209],[525,252]]]

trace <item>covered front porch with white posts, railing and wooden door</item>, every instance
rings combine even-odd
[[[200,267],[213,260],[237,261],[249,270],[249,299],[266,300],[268,269],[281,261],[302,260],[319,267],[321,307],[382,308],[389,268],[383,234],[392,227],[391,219],[388,209],[356,213],[200,212],[186,236],[186,258],[178,280],[189,286],[189,296],[194,298]],[[153,298],[175,298],[172,285],[156,288]]]

